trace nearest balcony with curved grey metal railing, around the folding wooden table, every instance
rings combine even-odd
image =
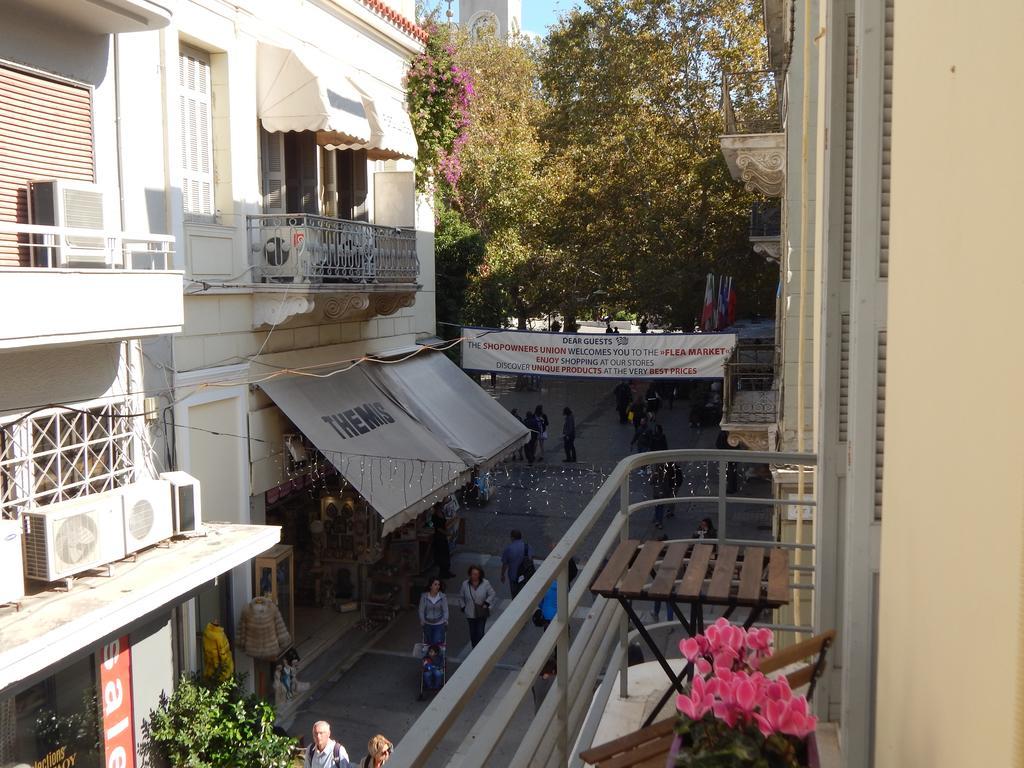
[[[652,714],[654,700],[667,688],[666,676],[660,671],[653,676],[645,675],[644,667],[628,666],[629,645],[637,639],[639,631],[617,601],[594,597],[589,588],[620,542],[640,538],[650,509],[665,503],[657,499],[634,501],[637,496],[630,488],[646,482],[638,470],[667,461],[675,462],[684,473],[708,478],[702,487],[694,485],[691,495],[676,497],[675,503],[690,505],[691,509],[700,509],[699,514],[707,513],[717,519],[719,547],[765,544],[767,535],[765,539],[741,535],[740,527],[744,524],[750,530],[750,515],[755,509],[762,515],[771,515],[793,505],[816,515],[813,500],[752,498],[754,494],[750,492],[739,497],[729,495],[727,483],[718,481],[729,474],[730,464],[779,462],[809,469],[816,464],[812,455],[664,451],[623,459],[536,574],[495,620],[480,643],[409,729],[389,766],[412,768],[434,764],[431,754],[435,745],[452,738],[455,730],[466,733],[456,750],[461,758],[459,765],[582,766],[581,752],[611,737],[609,721],[614,721],[614,729],[623,734],[639,728],[643,719]],[[640,517],[634,521],[638,513]],[[806,524],[813,526],[814,517]],[[595,540],[599,541],[593,545]],[[813,541],[813,536],[810,540]],[[796,543],[774,546],[790,551],[793,602],[801,602],[805,593],[813,595],[814,582],[806,577],[815,572],[814,546]],[[572,587],[566,590],[570,557],[585,564]],[[534,649],[518,673],[510,675],[501,669],[500,663],[554,580],[559,585],[557,614],[532,643]],[[579,616],[583,616],[582,621]],[[775,620],[778,618],[776,614]],[[761,626],[776,633],[808,634],[817,629],[804,621],[809,618],[807,613],[801,617],[798,612],[790,624]],[[713,616],[708,615],[706,621],[713,621]],[[664,639],[672,626],[678,627],[673,622],[648,625],[647,629],[652,634],[662,633]],[[678,639],[677,633],[674,642],[665,645],[674,645]],[[530,686],[553,654],[557,656],[558,673],[547,695],[538,701],[535,715],[528,701]],[[480,692],[487,688],[497,688],[498,692],[490,700],[483,700]],[[668,709],[672,707],[670,700]],[[506,759],[510,755],[511,759]]]

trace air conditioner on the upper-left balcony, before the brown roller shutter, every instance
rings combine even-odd
[[[29,221],[68,229],[92,229],[96,234],[65,234],[56,241],[34,236],[35,266],[106,266],[103,191],[98,184],[68,179],[29,182]]]

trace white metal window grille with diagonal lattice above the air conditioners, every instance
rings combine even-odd
[[[134,419],[121,400],[0,428],[0,515],[131,482]]]

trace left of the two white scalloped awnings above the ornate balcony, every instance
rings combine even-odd
[[[354,144],[373,135],[364,94],[345,73],[326,63],[317,71],[294,50],[260,43],[256,88],[260,122],[271,133],[318,131]]]

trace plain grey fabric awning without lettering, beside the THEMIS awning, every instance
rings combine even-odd
[[[466,464],[486,468],[526,441],[529,430],[441,352],[367,365],[367,374]]]

